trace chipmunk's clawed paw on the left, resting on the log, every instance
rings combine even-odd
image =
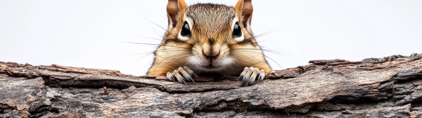
[[[172,73],[167,72],[167,79],[169,81],[173,81],[173,82],[179,82],[179,83],[184,83],[186,84],[186,82],[193,82],[195,83],[195,81],[193,81],[193,78],[197,78],[198,75],[195,74],[195,72],[193,72],[191,69],[189,69],[188,67],[184,66],[179,67],[178,69],[174,70]]]

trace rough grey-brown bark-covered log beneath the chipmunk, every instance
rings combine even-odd
[[[310,63],[240,87],[233,76],[183,85],[112,70],[0,62],[0,117],[422,117],[421,54]]]

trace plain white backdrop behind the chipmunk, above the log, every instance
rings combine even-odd
[[[234,5],[237,0],[186,0]],[[0,61],[144,75],[167,0],[0,0]],[[253,0],[252,29],[282,68],[422,53],[422,0]],[[154,25],[153,23],[158,24]],[[158,32],[158,34],[155,31]],[[141,54],[141,55],[139,55]],[[142,58],[144,57],[144,58]],[[273,69],[281,69],[267,59]]]

